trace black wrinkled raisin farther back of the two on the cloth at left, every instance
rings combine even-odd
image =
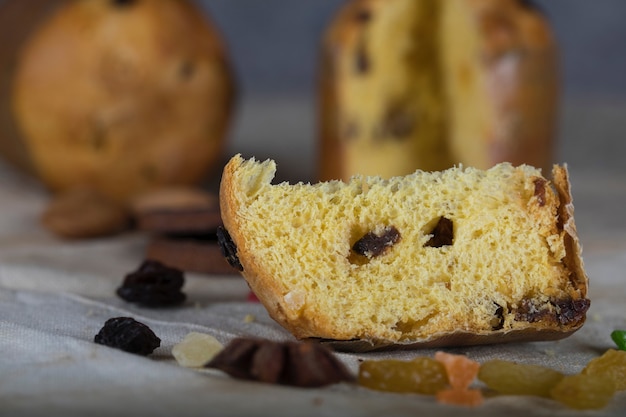
[[[172,306],[185,301],[186,296],[181,291],[184,283],[180,269],[146,260],[139,269],[126,275],[116,293],[126,301],[146,307]]]

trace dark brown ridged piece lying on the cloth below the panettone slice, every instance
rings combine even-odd
[[[206,367],[233,378],[298,387],[321,387],[353,379],[331,350],[313,342],[236,338]]]

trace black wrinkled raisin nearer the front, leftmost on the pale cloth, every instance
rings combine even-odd
[[[131,317],[108,319],[94,337],[94,342],[143,356],[161,346],[161,339],[148,326]]]

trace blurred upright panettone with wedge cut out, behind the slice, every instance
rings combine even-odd
[[[455,164],[548,173],[558,59],[522,0],[353,0],[322,44],[319,176]]]

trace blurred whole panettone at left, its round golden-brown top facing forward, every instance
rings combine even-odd
[[[221,160],[234,81],[193,2],[10,0],[0,32],[0,152],[51,190],[127,201]]]

